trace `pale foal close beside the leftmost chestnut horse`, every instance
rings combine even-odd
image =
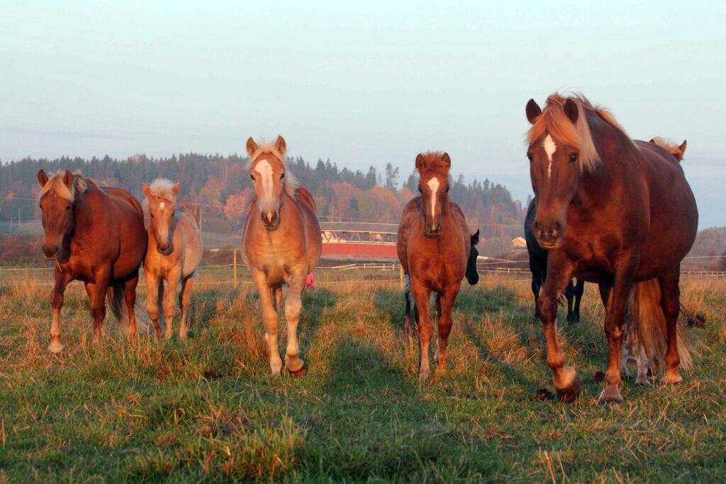
[[[202,231],[191,213],[176,207],[178,183],[156,179],[151,185],[144,183],[144,194],[144,208],[148,208],[150,216],[147,229],[149,245],[144,258],[147,311],[154,321],[156,335],[161,336],[161,320],[166,327],[166,337],[170,338],[176,309],[176,288],[181,284],[179,339],[185,340],[189,292],[192,291],[195,272],[202,260]],[[163,306],[163,313],[160,313],[159,305]]]

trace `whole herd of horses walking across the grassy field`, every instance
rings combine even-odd
[[[679,319],[680,263],[698,226],[696,201],[679,163],[685,141],[676,146],[661,139],[630,139],[610,112],[579,95],[552,94],[544,108],[530,99],[526,118],[531,123],[527,157],[535,197],[525,232],[535,317],[542,321],[547,365],[560,400],[574,401],[581,390],[576,370],[565,365],[558,345],[558,300],[563,292],[574,299],[567,319],[578,320],[585,281],[599,284],[605,305],[608,364],[599,403],[622,401],[626,321],[631,321],[630,333],[637,334],[646,366],[654,373],[664,367],[661,380],[666,384],[682,382],[679,369],[690,366],[695,344]],[[248,139],[255,195],[245,217],[242,254],[259,293],[272,374],[285,367],[300,376],[306,371],[297,338],[301,294],[319,261],[322,240],[314,198],[287,171],[285,151],[282,136],[267,144]],[[396,245],[406,276],[404,327],[409,329],[412,297],[419,377],[426,380],[431,373],[431,293],[436,294],[438,329],[433,361],[441,372],[462,280],[478,281],[479,234],[469,233],[464,213],[449,197],[449,155],[422,153],[415,168],[420,195],[401,214]],[[106,299],[128,335],[135,336],[142,264],[156,335],[162,335],[163,327],[171,337],[179,290],[179,337],[184,339],[189,291],[203,246],[197,221],[176,205],[179,184],[166,179],[144,184],[142,205],[129,192],[98,186],[82,173],[48,176],[41,170],[38,182],[43,252],[55,262],[49,350],[64,349],[60,311],[65,288],[76,279],[89,296],[94,340],[102,337]],[[284,362],[277,342],[283,294]]]

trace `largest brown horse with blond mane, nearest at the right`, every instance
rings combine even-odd
[[[678,320],[680,262],[698,227],[682,168],[656,144],[630,139],[608,111],[584,97],[552,94],[544,110],[530,99],[526,115],[538,200],[532,228],[550,250],[539,314],[560,399],[574,401],[580,393],[555,327],[558,296],[573,276],[613,285],[603,292],[608,366],[599,403],[622,401],[623,321],[632,291],[646,356],[665,363],[664,382],[682,382],[679,366],[688,367],[691,357]]]

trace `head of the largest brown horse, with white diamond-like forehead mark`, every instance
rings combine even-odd
[[[559,247],[567,228],[567,210],[580,186],[584,171],[599,160],[592,144],[580,97],[547,99],[544,111],[534,99],[526,107],[532,127],[527,157],[532,189],[537,196],[537,216],[532,231],[544,249]]]

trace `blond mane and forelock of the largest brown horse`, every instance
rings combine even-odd
[[[572,123],[565,113],[565,103],[570,99],[577,106],[577,121]],[[579,149],[579,165],[581,171],[594,171],[600,163],[600,155],[597,154],[595,144],[592,142],[592,134],[590,134],[590,125],[587,123],[587,111],[595,111],[605,123],[616,128],[627,139],[630,137],[620,126],[611,112],[600,105],[593,106],[582,94],[572,94],[564,97],[558,93],[551,94],[547,98],[542,114],[537,117],[527,134],[529,144],[533,144],[542,139],[545,134],[550,134],[552,138],[564,144]],[[631,140],[632,142],[632,140]]]

